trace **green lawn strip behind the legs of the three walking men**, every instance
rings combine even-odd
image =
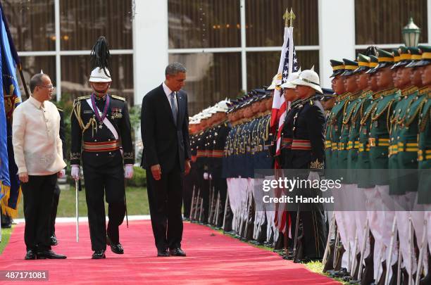
[[[149,215],[148,195],[146,188],[127,187],[127,215]],[[78,210],[80,217],[87,217],[87,204],[85,203],[85,187],[79,192]],[[105,203],[105,213],[108,215],[108,204]],[[23,218],[23,203],[20,203],[18,217]],[[75,187],[62,190],[58,201],[57,217],[75,217]]]

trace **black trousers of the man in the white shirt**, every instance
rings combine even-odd
[[[51,249],[51,203],[56,182],[56,174],[29,175],[28,182],[21,184],[24,196],[24,241],[27,251]]]

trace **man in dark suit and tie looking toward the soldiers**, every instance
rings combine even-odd
[[[190,170],[189,113],[182,91],[186,69],[171,63],[165,82],[142,99],[142,167],[157,256],[185,256],[182,239],[182,179]],[[169,248],[169,252],[168,252]]]

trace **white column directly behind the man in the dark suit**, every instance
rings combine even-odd
[[[135,1],[133,74],[135,105],[165,78],[168,65],[168,0]]]

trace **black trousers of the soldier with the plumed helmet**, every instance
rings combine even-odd
[[[123,161],[120,156],[103,166],[94,166],[85,161],[83,153],[85,179],[85,200],[88,209],[88,224],[92,250],[106,250],[106,234],[112,243],[120,242],[118,227],[125,216],[125,188]],[[108,227],[106,228],[105,203],[108,203]]]

